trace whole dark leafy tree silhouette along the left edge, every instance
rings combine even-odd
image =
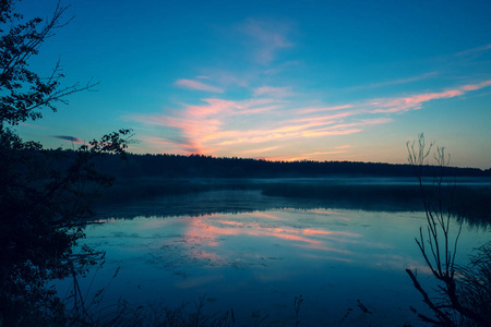
[[[45,150],[12,131],[95,85],[62,87],[59,62],[48,76],[28,68],[44,41],[70,22],[63,21],[67,9],[58,3],[50,19],[25,20],[14,0],[0,0],[0,325],[41,325],[64,316],[48,281],[84,274],[104,255],[77,246],[94,214],[92,201],[112,182],[94,159],[124,156],[131,136],[120,130],[63,152]]]

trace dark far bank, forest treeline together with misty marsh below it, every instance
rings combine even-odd
[[[48,157],[62,159],[50,166],[63,166],[63,161],[69,161],[74,155],[71,150],[58,152],[62,155]],[[364,210],[421,208],[421,190],[417,184],[415,167],[410,165],[306,160],[286,162],[201,155],[127,154],[125,157],[127,160],[116,155],[96,158],[97,170],[116,178],[115,185],[104,192],[98,205],[218,190],[258,190],[268,196],[319,199],[332,207]],[[421,174],[428,177],[430,182],[435,175],[479,179],[490,177],[491,169],[426,166]],[[297,178],[312,180],[303,183],[296,181]],[[363,178],[407,178],[415,183],[387,184],[373,181],[363,184]],[[477,223],[489,222],[491,190],[487,183],[479,186],[460,184],[454,192],[453,206],[457,216],[470,218]]]

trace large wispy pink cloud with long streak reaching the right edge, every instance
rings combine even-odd
[[[168,113],[133,116],[131,119],[157,128],[160,135],[172,135],[149,142],[176,153],[247,156],[274,152],[280,156],[294,142],[307,144],[325,137],[361,133],[370,126],[392,123],[394,118],[391,114],[421,109],[428,101],[454,98],[489,86],[491,81],[482,81],[440,92],[319,108],[296,108],[295,98],[288,102],[273,97],[241,101],[206,98],[200,105],[184,105]],[[258,89],[258,93],[274,94],[272,89]],[[166,131],[173,132],[169,134]],[[330,152],[297,155],[295,159],[327,158],[344,152],[349,152],[349,145],[333,147]],[[292,159],[291,156],[289,158]]]

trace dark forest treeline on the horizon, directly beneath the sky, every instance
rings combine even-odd
[[[67,150],[70,153],[71,150]],[[67,157],[67,156],[64,156]],[[68,156],[70,157],[70,156]],[[98,168],[116,178],[319,178],[319,177],[408,177],[410,165],[358,161],[268,161],[247,158],[217,158],[203,155],[135,155],[121,161],[116,155],[98,159]],[[444,167],[452,177],[490,177],[491,169]],[[439,171],[441,173],[442,171]],[[422,174],[433,177],[435,167]]]

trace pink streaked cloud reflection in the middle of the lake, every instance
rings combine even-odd
[[[301,213],[338,215],[334,211],[321,210]],[[295,210],[290,214],[298,215],[298,211]],[[282,219],[280,223],[276,222]],[[271,223],[272,220],[274,223]],[[342,244],[354,243],[362,239],[361,234],[355,232],[299,226],[298,222],[288,226],[285,222],[288,222],[288,220],[285,220],[285,211],[254,211],[241,215],[214,214],[207,217],[191,217],[183,233],[183,239],[187,243],[196,244],[197,242],[203,249],[213,249],[213,251],[220,253],[227,249],[230,242],[229,238],[236,237],[240,239],[238,242],[241,242],[243,247],[250,247],[251,244],[263,244],[263,246],[270,247],[272,243],[279,243],[284,247],[298,249],[290,252],[292,255],[307,257],[306,251],[331,252],[335,253],[332,255],[334,259],[345,262],[351,261],[345,256],[351,255],[352,252]],[[255,250],[262,252],[261,249]],[[207,251],[193,251],[193,254],[207,261],[223,259],[218,255],[211,255]]]

